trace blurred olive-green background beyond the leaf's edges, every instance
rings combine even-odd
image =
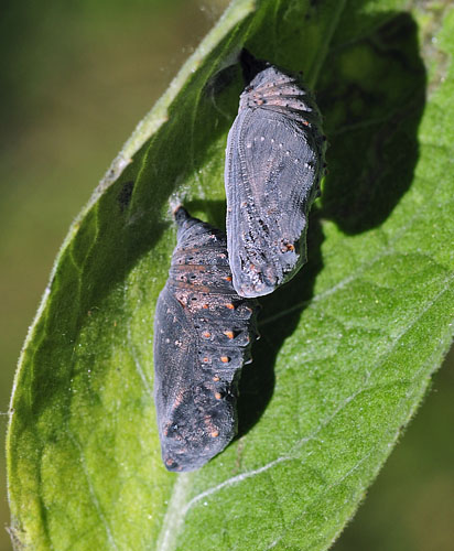
[[[227,0],[3,2],[0,420],[69,223]],[[335,551],[454,549],[454,352]],[[4,454],[0,523],[9,523]],[[0,530],[0,551],[11,550]]]

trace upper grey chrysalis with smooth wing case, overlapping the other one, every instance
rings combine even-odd
[[[249,85],[227,141],[227,248],[241,296],[271,293],[306,261],[307,214],[326,149],[311,94],[248,52]]]

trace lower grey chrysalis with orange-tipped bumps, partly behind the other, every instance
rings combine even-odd
[[[183,207],[154,317],[154,400],[169,471],[193,471],[236,434],[238,380],[256,337],[255,300],[231,284],[226,236]]]

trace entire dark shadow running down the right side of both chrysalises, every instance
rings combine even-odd
[[[277,355],[313,296],[323,267],[320,219],[333,219],[347,234],[366,231],[386,220],[413,180],[425,69],[411,15],[389,14],[386,21],[371,35],[336,48],[322,69],[317,98],[331,142],[323,207],[311,215],[307,264],[260,301],[262,339],[255,345],[253,364],[244,369],[238,436],[253,426],[271,399]],[[375,28],[374,22],[366,26]],[[354,78],[344,75],[343,62],[355,66],[364,50],[368,71],[358,65]]]

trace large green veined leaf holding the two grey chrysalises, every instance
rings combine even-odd
[[[8,434],[20,549],[324,550],[414,413],[454,317],[448,2],[237,0],[60,251]],[[331,142],[309,263],[262,300],[239,437],[167,473],[152,399],[169,198],[221,226],[236,56],[303,71]]]

